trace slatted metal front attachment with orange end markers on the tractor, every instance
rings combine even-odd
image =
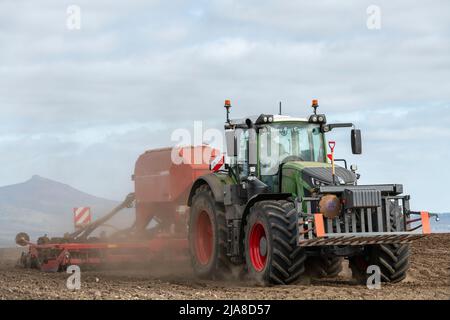
[[[302,199],[298,244],[410,243],[423,237],[430,233],[430,214],[411,211],[410,197],[400,195],[402,189],[399,184],[320,187],[316,196]],[[324,199],[324,195],[328,198]],[[336,207],[340,210],[334,214]],[[411,218],[417,214],[419,219]],[[419,228],[422,233],[413,232]]]

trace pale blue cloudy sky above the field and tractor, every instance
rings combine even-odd
[[[80,29],[68,28],[70,5]],[[377,5],[381,24],[371,18]],[[403,183],[416,209],[450,211],[450,2],[0,0],[0,185],[33,174],[121,199],[134,161],[193,121],[306,116],[363,183]],[[69,23],[73,27],[73,24]]]

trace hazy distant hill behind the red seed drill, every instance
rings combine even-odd
[[[32,239],[45,233],[57,236],[72,231],[74,207],[91,207],[95,218],[117,204],[37,175],[0,187],[0,246],[14,245],[14,236],[21,231]]]

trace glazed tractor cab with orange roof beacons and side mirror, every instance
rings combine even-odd
[[[355,174],[339,168],[333,177],[334,163],[327,157],[325,133],[336,127],[353,127],[351,123],[328,124],[324,114],[317,114],[318,102],[313,100],[314,113],[309,118],[261,114],[245,119],[229,119],[229,101],[226,102],[225,132],[229,170],[237,181],[258,179],[267,186],[267,192],[288,192],[304,195],[304,190],[315,184],[355,184]],[[361,153],[361,134],[352,130],[352,149]],[[315,175],[303,181],[304,169],[314,168]],[[307,170],[308,171],[308,170]],[[292,173],[300,173],[300,180]],[[283,185],[283,177],[286,183]],[[315,179],[314,179],[315,178]],[[306,185],[305,183],[306,182]]]

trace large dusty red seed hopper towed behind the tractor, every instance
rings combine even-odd
[[[156,216],[167,224],[175,223],[179,231],[185,229],[187,212],[183,215],[177,209],[187,205],[192,183],[211,172],[210,158],[218,154],[219,150],[208,146],[187,146],[140,155],[133,176],[137,228],[144,229]],[[173,163],[172,155],[182,163]]]

